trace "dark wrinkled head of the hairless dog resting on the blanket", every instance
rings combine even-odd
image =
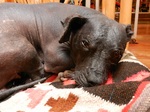
[[[60,43],[69,42],[75,63],[72,78],[81,86],[101,84],[113,65],[121,59],[133,32],[104,15],[84,18],[74,15],[66,19]]]

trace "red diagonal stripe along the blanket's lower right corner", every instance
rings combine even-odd
[[[129,111],[129,109],[135,103],[135,101],[138,99],[138,97],[141,95],[142,91],[144,90],[144,88],[146,87],[147,84],[150,84],[150,81],[144,81],[139,85],[139,87],[134,95],[134,98],[131,100],[131,102],[129,104],[127,104],[127,106],[122,110],[122,112]]]

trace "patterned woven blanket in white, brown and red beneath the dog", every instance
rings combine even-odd
[[[0,103],[0,112],[150,112],[150,71],[126,51],[105,84],[75,88],[74,81],[45,83]]]

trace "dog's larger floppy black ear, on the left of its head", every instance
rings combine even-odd
[[[72,32],[76,32],[79,30],[85,23],[87,19],[80,15],[73,15],[68,18],[64,22],[61,22],[65,27],[65,31],[63,36],[60,38],[59,43],[64,43],[69,41],[70,35]]]

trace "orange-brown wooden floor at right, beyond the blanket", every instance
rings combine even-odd
[[[129,44],[128,50],[150,68],[150,24],[138,25],[136,41],[138,44]]]

